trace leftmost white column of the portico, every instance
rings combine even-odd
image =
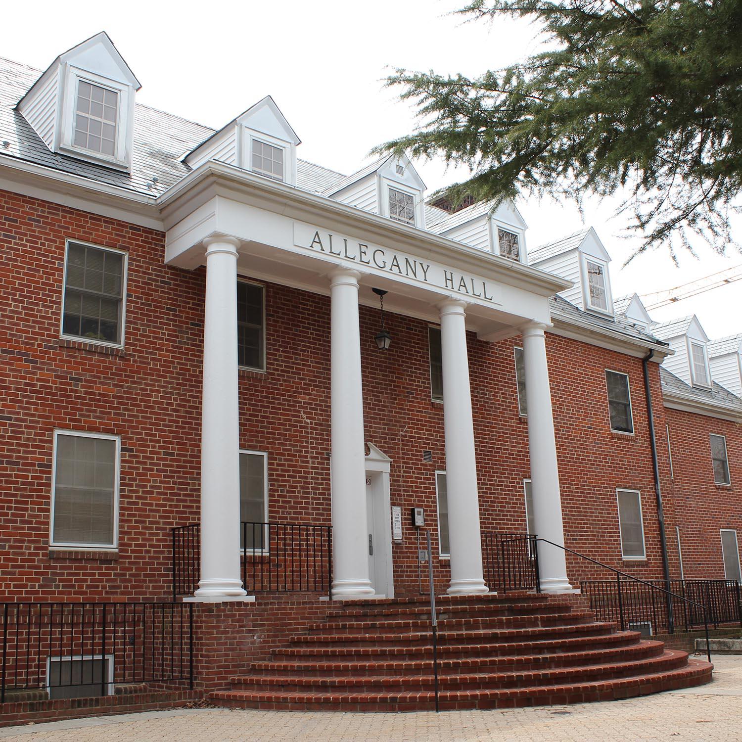
[[[237,247],[209,237],[203,320],[201,579],[195,597],[229,600],[240,578],[240,431],[237,394]]]

